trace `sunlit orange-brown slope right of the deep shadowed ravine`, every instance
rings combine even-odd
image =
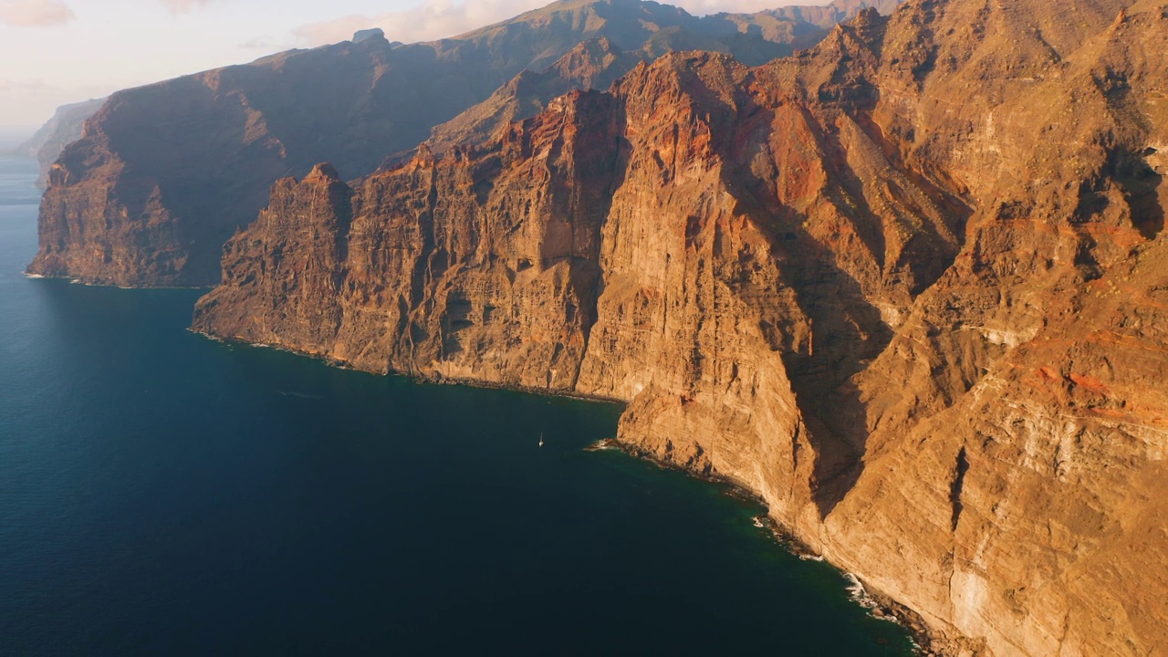
[[[849,563],[904,535],[943,546],[906,547],[933,565],[905,569],[919,580],[872,582],[931,597],[919,608],[996,653],[1154,652],[1168,644],[1168,16],[1149,2],[922,9],[933,35],[960,36],[894,19],[872,119],[976,212],[961,256],[854,380],[864,470],[822,532]],[[923,84],[894,82],[894,60],[924,67]]]

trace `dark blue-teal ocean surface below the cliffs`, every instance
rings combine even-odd
[[[30,279],[0,158],[0,655],[910,655],[614,406],[186,330],[196,291]],[[545,445],[538,447],[540,435]]]

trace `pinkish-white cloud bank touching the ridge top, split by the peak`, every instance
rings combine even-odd
[[[167,0],[192,2],[207,0]],[[551,0],[425,0],[404,12],[389,12],[374,16],[354,14],[332,21],[310,23],[292,34],[301,46],[321,46],[345,41],[359,29],[380,27],[390,41],[431,41],[456,36],[472,29],[503,21],[548,5]],[[825,5],[827,0],[666,0],[695,15],[718,12],[760,12],[788,4]]]

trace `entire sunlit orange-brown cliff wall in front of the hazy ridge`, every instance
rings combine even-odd
[[[283,180],[195,327],[628,402],[953,653],[1168,645],[1168,5],[911,0]]]

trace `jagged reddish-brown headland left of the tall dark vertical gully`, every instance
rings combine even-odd
[[[489,368],[499,383],[571,390],[595,323],[617,136],[613,98],[577,92],[491,151],[425,151],[353,189],[320,173],[280,181],[229,242],[224,285],[200,312],[366,369]]]

